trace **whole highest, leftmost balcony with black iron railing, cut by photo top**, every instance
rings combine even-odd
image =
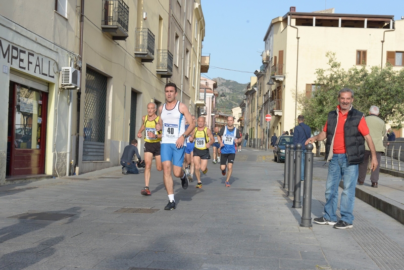
[[[111,34],[114,40],[126,40],[129,36],[129,7],[122,0],[105,0],[103,4],[103,32]]]

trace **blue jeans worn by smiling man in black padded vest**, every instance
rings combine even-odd
[[[328,165],[328,176],[325,184],[324,217],[337,221],[338,185],[343,178],[344,190],[341,194],[341,220],[352,223],[354,221],[355,188],[358,179],[358,164],[349,165],[346,154],[334,154]]]

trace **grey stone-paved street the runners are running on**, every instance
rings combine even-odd
[[[324,207],[323,164],[315,158],[312,218]],[[168,197],[155,167],[151,196],[140,195],[143,169],[123,175],[120,167],[0,187],[0,269],[403,268],[403,224],[359,199],[352,229],[299,227],[301,209],[291,208],[272,151],[237,153],[231,188],[219,164],[208,168],[201,189],[194,181],[183,190],[175,179],[172,211],[163,210]],[[383,174],[372,189],[368,176],[361,189],[402,203],[401,180]]]

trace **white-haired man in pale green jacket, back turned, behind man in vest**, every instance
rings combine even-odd
[[[369,109],[369,116],[365,117],[366,124],[369,127],[369,134],[372,137],[373,144],[375,145],[377,167],[371,172],[370,181],[372,182],[372,188],[377,188],[379,182],[379,171],[380,171],[380,161],[382,154],[384,153],[383,137],[386,133],[386,124],[382,119],[378,117],[379,107],[371,106]],[[368,171],[368,163],[370,157],[370,149],[367,144],[365,144],[365,155],[364,162],[359,164],[359,176],[358,185],[363,185],[366,178],[366,173]]]

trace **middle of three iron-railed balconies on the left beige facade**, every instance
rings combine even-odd
[[[148,28],[135,30],[135,57],[142,62],[153,62],[155,59],[155,35]]]

